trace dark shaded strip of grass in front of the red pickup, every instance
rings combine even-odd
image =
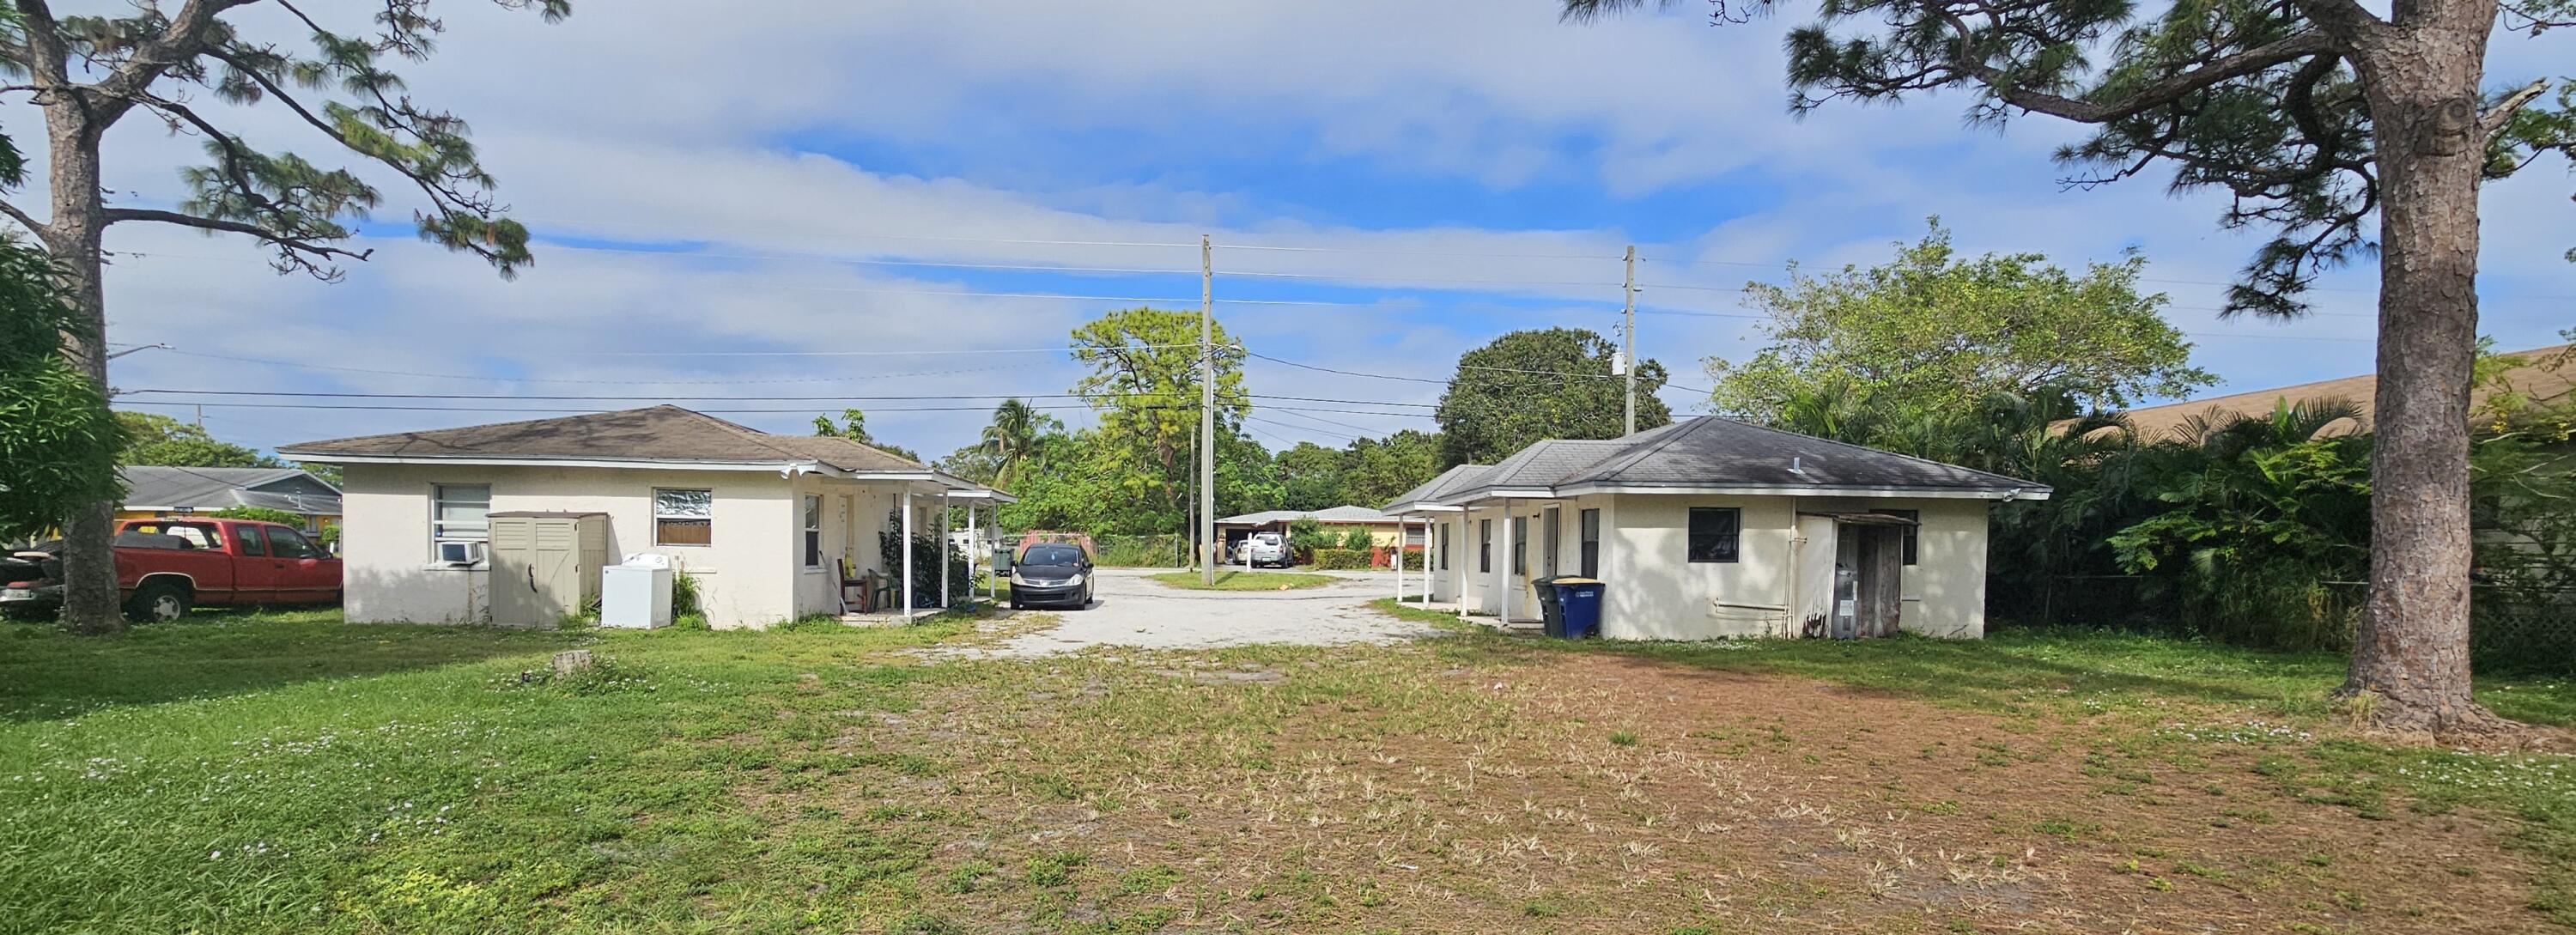
[[[500,626],[340,623],[337,610],[193,613],[124,636],[0,626],[0,719],[234,695],[309,680],[433,670],[554,652],[577,634]]]

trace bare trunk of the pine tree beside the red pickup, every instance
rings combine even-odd
[[[98,386],[108,386],[108,307],[100,291],[103,198],[98,188],[98,134],[88,103],[72,95],[44,108],[52,147],[52,219],[44,237],[64,270],[70,301],[90,325],[90,337],[64,345],[64,355]],[[77,634],[116,634],[126,618],[116,595],[116,505],[95,502],[62,525],[62,623]]]

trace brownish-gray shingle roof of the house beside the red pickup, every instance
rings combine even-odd
[[[827,435],[770,435],[706,412],[644,407],[554,420],[309,440],[278,448],[301,461],[394,458],[598,458],[598,461],[819,461],[842,471],[922,471],[920,461]]]

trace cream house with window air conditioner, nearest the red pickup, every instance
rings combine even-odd
[[[495,513],[605,515],[608,562],[665,554],[693,574],[711,626],[840,613],[837,564],[889,572],[878,536],[938,533],[943,505],[1010,495],[827,435],[770,435],[680,407],[572,415],[286,446],[343,469],[340,556],[350,621],[482,621],[489,562],[440,562],[479,543]],[[917,595],[930,605],[938,595]],[[523,623],[523,621],[505,621]]]

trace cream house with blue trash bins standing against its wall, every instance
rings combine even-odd
[[[1986,634],[1986,510],[2048,487],[1723,417],[1461,464],[1388,515],[1430,523],[1430,598],[1535,621],[1535,577],[1607,582],[1602,636]]]

